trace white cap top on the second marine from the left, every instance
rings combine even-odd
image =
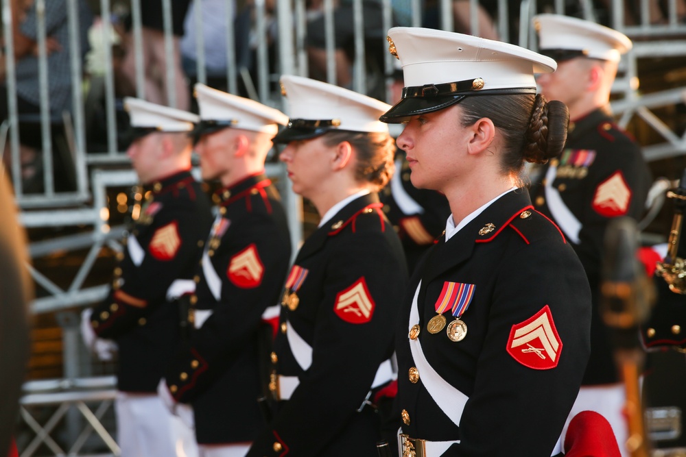
[[[238,97],[204,84],[196,84],[201,121],[230,121],[231,127],[276,134],[288,122],[283,112],[258,101]]]

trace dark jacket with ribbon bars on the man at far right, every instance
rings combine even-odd
[[[543,166],[531,189],[536,209],[553,219],[563,232],[565,223],[554,217],[553,203],[545,196],[543,177],[550,166],[557,170],[549,184],[581,224],[578,242],[569,236],[567,239],[586,270],[593,294],[593,350],[583,384],[619,382],[608,329],[599,312],[604,236],[613,217],[641,219],[651,184],[650,170],[639,146],[606,110],[595,110],[570,125],[565,151],[559,160]]]

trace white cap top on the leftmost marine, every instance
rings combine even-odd
[[[131,127],[154,128],[160,132],[190,132],[200,118],[193,113],[150,103],[133,97],[124,99]]]

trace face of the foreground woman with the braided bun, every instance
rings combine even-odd
[[[407,154],[416,188],[445,191],[468,172],[462,159],[468,132],[460,125],[460,106],[413,116],[396,143]]]

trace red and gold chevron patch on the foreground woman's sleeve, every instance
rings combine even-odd
[[[525,367],[536,370],[557,367],[562,340],[555,328],[549,306],[543,306],[522,323],[512,325],[507,350],[514,360]]]

